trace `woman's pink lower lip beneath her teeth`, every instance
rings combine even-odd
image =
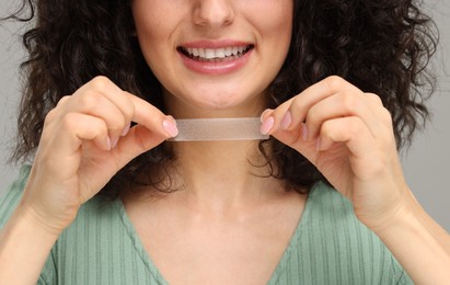
[[[244,55],[242,55],[239,58],[223,61],[199,61],[191,57],[187,57],[182,53],[178,54],[181,55],[181,58],[185,67],[187,67],[192,71],[204,75],[228,75],[242,69],[249,61],[252,52],[253,48],[247,50]]]

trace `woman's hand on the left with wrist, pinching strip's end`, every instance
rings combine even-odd
[[[48,113],[20,208],[59,235],[118,170],[176,134],[173,117],[94,78]]]

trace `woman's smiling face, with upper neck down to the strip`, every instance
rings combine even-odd
[[[176,117],[258,115],[289,49],[292,0],[134,0],[142,54]]]

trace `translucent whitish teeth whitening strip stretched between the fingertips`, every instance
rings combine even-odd
[[[171,141],[267,139],[259,132],[259,117],[175,119],[178,135]]]

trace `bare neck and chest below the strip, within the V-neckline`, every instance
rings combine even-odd
[[[245,161],[254,142],[217,142],[209,148],[194,144],[177,145],[201,150],[183,151],[188,157],[180,158],[182,190],[155,198],[124,197],[139,238],[170,284],[266,283],[299,223],[307,196],[286,192],[272,178],[245,174],[255,171]],[[215,148],[235,151],[200,155],[217,153]],[[200,156],[193,159],[193,153]]]

